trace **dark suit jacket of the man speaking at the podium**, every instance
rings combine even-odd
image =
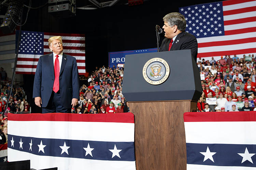
[[[168,51],[170,41],[171,41],[171,39],[168,39],[168,38],[163,39],[159,51]],[[187,49],[191,49],[191,53],[193,54],[195,61],[197,61],[197,39],[196,39],[196,37],[189,33],[181,32],[175,38],[170,51],[187,50]]]

